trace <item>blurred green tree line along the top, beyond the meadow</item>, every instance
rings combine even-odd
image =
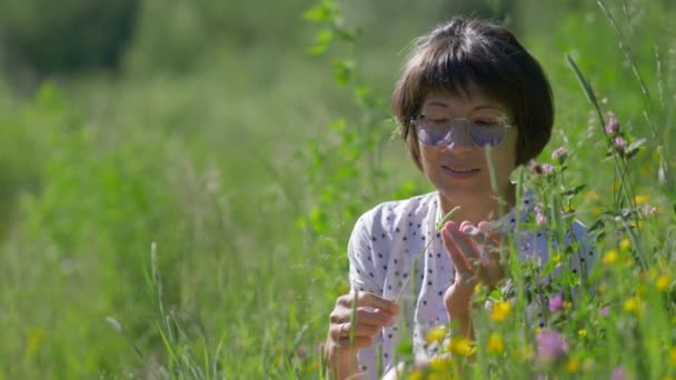
[[[317,1],[4,0],[0,64],[10,72],[23,68],[40,74],[101,69],[186,72],[215,52],[238,54],[265,46],[284,53],[290,46],[308,43],[300,14]],[[348,22],[368,28],[374,41],[391,38],[397,30],[415,36],[458,13],[503,20],[517,32],[543,30],[560,11],[595,7],[583,0],[546,6],[536,0],[340,2]]]

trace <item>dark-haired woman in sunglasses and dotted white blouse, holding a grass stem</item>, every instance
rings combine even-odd
[[[348,244],[351,292],[336,302],[325,344],[339,379],[376,378],[378,361],[385,371],[395,367],[404,333],[420,360],[436,353],[425,341],[433,327],[454,321],[459,333],[473,337],[475,286],[505,277],[499,254],[486,253],[481,242],[498,246],[500,233],[513,232],[516,209],[531,212],[529,197],[516,207],[509,176],[545,148],[554,123],[551,90],[538,62],[507,29],[476,19],[453,19],[417,40],[392,109],[416,166],[436,191],[379,204],[357,221]],[[500,216],[503,206],[511,211]],[[456,207],[438,232],[443,216]],[[580,240],[585,229],[574,224],[573,232]],[[523,258],[548,258],[541,233],[524,236],[518,247]],[[402,318],[408,332],[397,323]]]

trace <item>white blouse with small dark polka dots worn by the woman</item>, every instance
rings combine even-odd
[[[381,352],[384,371],[396,366],[395,351],[401,333],[414,341],[417,359],[429,359],[438,348],[426,342],[427,331],[448,323],[444,293],[454,281],[454,267],[441,242],[436,226],[441,221],[438,192],[430,192],[401,201],[378,204],[357,221],[348,243],[350,286],[352,290],[376,293],[398,300],[402,307],[399,324],[386,327],[375,339],[372,348],[359,351],[360,366],[371,379],[377,379],[376,352]],[[521,217],[531,212],[531,197],[524,198]],[[499,222],[504,232],[514,233],[521,259],[548,260],[546,233],[515,233],[514,210]],[[584,226],[574,227],[581,237]],[[581,250],[592,258],[590,249]],[[588,259],[587,262],[592,260]],[[404,328],[404,329],[402,329]],[[404,331],[402,331],[404,330]]]

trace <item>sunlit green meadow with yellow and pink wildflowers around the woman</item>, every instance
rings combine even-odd
[[[523,296],[478,310],[487,333],[410,376],[675,378],[675,4],[485,3],[555,92],[538,158],[555,174],[515,177],[555,229],[563,212],[598,237],[598,292],[549,306],[545,328],[528,326]],[[260,43],[177,48],[198,57],[189,69],[161,67],[150,13],[119,74],[0,77],[0,380],[325,378],[318,346],[348,289],[354,222],[430,190],[394,136],[389,91],[411,39],[471,11],[454,4],[289,1]],[[201,41],[195,20],[170,40]],[[556,360],[538,357],[543,332],[566,341]]]

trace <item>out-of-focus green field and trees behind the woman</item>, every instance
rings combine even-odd
[[[607,3],[673,146],[676,3]],[[540,60],[557,100],[547,152],[567,144],[589,189],[608,192],[612,173],[598,172],[604,141],[565,53],[647,134],[593,1],[345,0],[354,43],[312,56],[325,27],[302,14],[316,4],[0,2],[0,380],[160,377],[171,352],[152,242],[163,312],[180,324],[169,346],[208,352],[218,377],[315,378],[356,218],[430,189],[385,119],[405,48],[451,16],[503,20]],[[346,84],[336,59],[354,64]]]

